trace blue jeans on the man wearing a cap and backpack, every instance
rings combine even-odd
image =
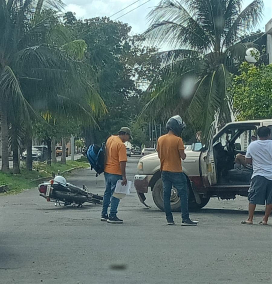
[[[105,216],[108,214],[108,207],[110,206],[110,217],[116,217],[117,214],[117,208],[120,202],[120,199],[115,198],[113,195],[117,181],[120,179],[123,179],[121,175],[113,175],[104,173],[105,176],[105,184],[106,184],[106,191],[104,193],[103,197],[103,210],[102,210],[102,216]]]

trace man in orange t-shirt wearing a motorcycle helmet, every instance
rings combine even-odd
[[[182,210],[182,226],[197,225],[197,222],[189,218],[187,178],[182,171],[181,163],[181,159],[185,160],[186,158],[184,152],[185,147],[180,137],[185,127],[185,123],[180,116],[173,116],[166,124],[168,134],[161,136],[158,140],[157,150],[161,160],[164,210],[167,225],[175,225],[170,204],[172,186],[175,186],[179,192]]]

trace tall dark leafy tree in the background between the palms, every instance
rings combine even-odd
[[[95,70],[95,88],[108,113],[97,116],[100,129],[84,125],[87,146],[103,142],[120,127],[130,125],[143,108],[140,98],[159,70],[155,48],[143,47],[143,38],[130,36],[127,24],[108,18],[77,21],[71,26],[74,37],[87,43],[87,62]]]

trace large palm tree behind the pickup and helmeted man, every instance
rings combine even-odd
[[[143,115],[161,119],[181,113],[204,133],[215,114],[221,122],[230,120],[230,73],[238,72],[247,49],[255,46],[245,43],[245,36],[261,20],[262,9],[262,0],[244,10],[242,0],[162,0],[148,15],[145,36],[153,45],[174,49],[159,54],[163,65],[149,86]]]

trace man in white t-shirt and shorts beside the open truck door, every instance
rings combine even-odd
[[[259,223],[267,225],[272,211],[272,140],[270,129],[263,126],[258,129],[259,140],[252,142],[247,149],[246,162],[253,165],[253,175],[248,191],[249,216],[242,224],[252,225],[257,204],[265,205],[263,220]]]

